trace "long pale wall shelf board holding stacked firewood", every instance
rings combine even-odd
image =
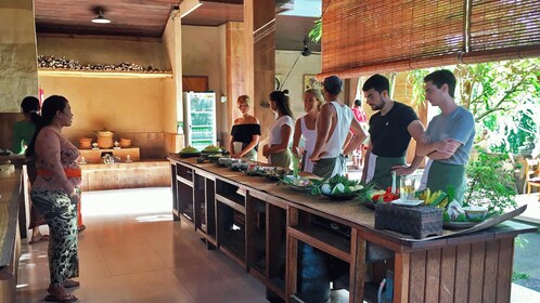
[[[38,76],[74,77],[74,78],[168,78],[172,79],[171,71],[164,73],[136,73],[136,71],[94,71],[70,69],[38,69]]]

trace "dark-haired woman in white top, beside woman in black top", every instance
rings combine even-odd
[[[288,90],[270,93],[270,109],[277,118],[270,128],[269,144],[262,147],[262,155],[268,158],[268,162],[282,168],[291,168],[293,162],[290,146],[293,141],[294,121],[286,94]]]

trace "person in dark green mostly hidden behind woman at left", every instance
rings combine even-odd
[[[12,152],[16,155],[24,154],[26,147],[30,145],[34,133],[36,132],[36,127],[41,120],[39,115],[40,106],[39,100],[35,96],[26,96],[21,103],[21,109],[24,115],[24,119],[15,122],[13,126],[13,144]],[[36,164],[34,161],[26,162],[28,179],[30,185],[36,181]],[[39,226],[44,225],[46,222],[38,211],[34,207],[30,200],[30,223],[28,228],[31,229],[31,237],[28,243],[34,245],[40,241],[48,241],[49,235],[42,235],[39,232]]]

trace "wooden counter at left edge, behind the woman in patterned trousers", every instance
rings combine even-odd
[[[21,169],[0,177],[0,302],[15,302],[21,239],[18,206],[23,195]]]

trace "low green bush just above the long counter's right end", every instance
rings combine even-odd
[[[516,208],[517,195],[513,166],[507,154],[488,154],[476,149],[476,159],[468,162],[466,205],[485,205],[490,214],[503,213]]]

